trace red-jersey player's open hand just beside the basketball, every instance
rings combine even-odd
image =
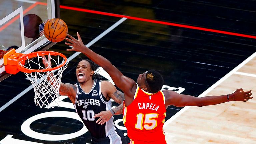
[[[84,44],[83,44],[83,41],[80,37],[80,35],[78,34],[78,32],[76,33],[77,34],[77,38],[78,39],[75,39],[74,37],[72,37],[71,35],[67,35],[69,38],[66,38],[66,40],[70,43],[67,43],[65,42],[66,45],[68,46],[72,46],[71,49],[67,49],[67,51],[77,51],[77,52],[81,52],[84,48],[87,48]]]

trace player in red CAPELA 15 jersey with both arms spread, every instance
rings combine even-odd
[[[96,54],[87,48],[80,35],[78,40],[68,35],[70,39],[65,43],[73,48],[67,51],[77,51],[85,54],[108,72],[112,80],[125,96],[123,109],[123,122],[127,128],[131,144],[166,144],[163,132],[163,123],[166,109],[170,105],[184,106],[207,106],[228,101],[248,101],[252,99],[250,91],[244,92],[237,89],[234,93],[221,96],[206,96],[197,98],[190,95],[178,94],[171,90],[163,90],[163,78],[154,70],[139,74],[137,83],[124,76],[106,58]],[[98,116],[98,115],[97,115]]]

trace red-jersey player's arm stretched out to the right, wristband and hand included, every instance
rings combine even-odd
[[[225,103],[228,101],[248,101],[252,99],[251,90],[243,91],[243,89],[237,89],[234,93],[228,95],[220,96],[206,96],[206,97],[194,97],[190,95],[178,94],[171,90],[163,90],[165,95],[165,105],[174,105],[177,107],[184,106],[207,106],[207,105],[216,105],[220,103]]]

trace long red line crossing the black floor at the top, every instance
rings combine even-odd
[[[69,7],[69,6],[62,6],[62,5],[60,6],[60,8],[256,39],[256,36],[253,36],[253,35],[239,34],[239,33],[234,33],[234,32],[208,29],[208,28],[202,28],[202,27],[196,27],[196,26],[190,26],[190,25],[170,23],[170,22],[164,22],[164,21],[158,21],[158,20],[150,20],[150,19],[131,17],[131,16],[126,16],[126,15],[119,15],[119,14],[113,14],[113,13],[107,13],[107,12],[101,12],[101,11],[94,11],[94,10],[88,10],[88,9],[82,9],[82,8],[75,8],[75,7]]]

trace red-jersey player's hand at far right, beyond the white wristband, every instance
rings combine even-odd
[[[248,101],[252,99],[252,90],[243,91],[243,89],[237,89],[234,93],[230,94],[230,101]]]

